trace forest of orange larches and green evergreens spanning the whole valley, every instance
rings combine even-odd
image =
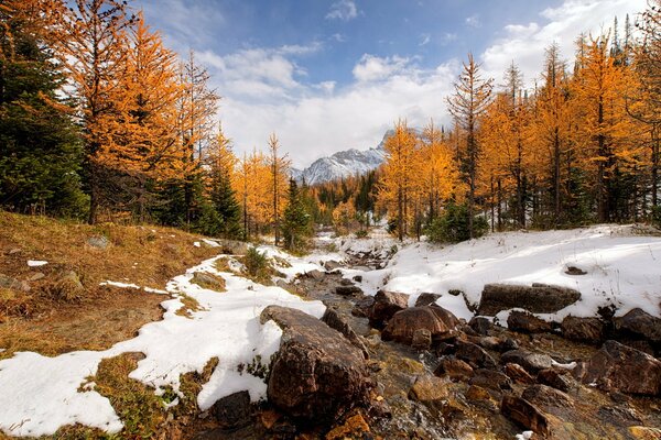
[[[314,224],[357,232],[388,220],[400,240],[488,230],[661,223],[661,2],[622,26],[549,42],[533,87],[516,61],[501,80],[468,54],[452,123],[394,123],[376,172],[308,187],[290,179],[275,133],[237,157],[221,90],[193,52],[169,50],[116,0],[0,4],[0,206],[155,223],[213,237],[284,238]]]

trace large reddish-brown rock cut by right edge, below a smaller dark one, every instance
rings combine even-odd
[[[616,341],[606,341],[588,362],[578,364],[573,374],[584,384],[596,383],[605,391],[661,394],[661,361]]]

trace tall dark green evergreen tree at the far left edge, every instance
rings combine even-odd
[[[76,217],[85,206],[80,138],[29,3],[0,4],[0,205]]]

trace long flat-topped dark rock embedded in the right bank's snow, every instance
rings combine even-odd
[[[566,287],[487,284],[483,289],[478,312],[496,316],[501,310],[522,308],[533,314],[554,314],[578,299],[581,293]]]

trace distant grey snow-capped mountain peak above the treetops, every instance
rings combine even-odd
[[[392,130],[389,130],[383,135],[381,143],[375,148],[340,151],[332,156],[317,158],[305,169],[292,168],[292,177],[297,182],[305,179],[307,185],[315,185],[366,174],[378,168],[386,160],[383,143],[391,134]]]

